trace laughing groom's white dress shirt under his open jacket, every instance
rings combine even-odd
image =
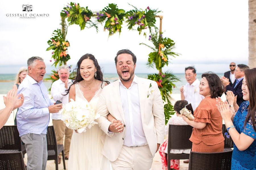
[[[126,133],[123,145],[142,146],[147,145],[141,121],[141,109],[137,76],[134,76],[131,86],[127,89],[119,79],[121,103],[126,122]]]

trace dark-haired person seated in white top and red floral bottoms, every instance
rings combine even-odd
[[[177,116],[172,116],[166,126],[165,126],[165,135],[168,135],[168,131],[169,131],[169,124],[171,125],[187,125],[187,123],[182,119],[181,114],[179,113],[179,111],[185,107],[185,105],[187,105],[187,101],[186,100],[178,100],[176,101],[176,103],[174,104],[174,111],[176,112]],[[166,160],[166,155],[168,153],[168,139],[166,139],[164,141],[164,143],[159,147],[159,154],[161,156],[161,162],[162,162],[162,167],[163,170],[167,170],[168,169],[168,164],[167,164],[167,160]],[[190,153],[190,149],[185,149],[185,150],[178,150],[178,149],[171,149],[170,151],[171,154],[189,154]],[[170,167],[171,169],[179,169],[179,160],[170,160]]]

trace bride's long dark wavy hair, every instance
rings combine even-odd
[[[82,63],[82,61],[83,61],[84,59],[91,59],[91,60],[93,61],[93,64],[94,64],[94,66],[95,66],[96,69],[97,69],[97,71],[96,71],[96,74],[97,74],[96,77],[93,76],[95,79],[102,81],[102,84],[103,84],[103,82],[106,82],[107,84],[110,84],[109,81],[103,79],[103,73],[102,73],[102,71],[101,71],[101,69],[100,69],[100,66],[99,66],[99,64],[98,64],[97,59],[96,59],[92,54],[85,54],[85,55],[83,55],[83,56],[79,59],[79,61],[77,62],[76,68],[73,70],[73,74],[76,74],[76,77],[72,80],[71,86],[72,86],[73,84],[76,84],[76,83],[78,83],[78,82],[84,80],[84,79],[82,78],[81,74],[80,74],[80,65],[81,65],[81,63]],[[76,71],[77,73],[75,73],[75,71]],[[101,87],[102,87],[102,84],[101,84]],[[69,86],[69,89],[66,90],[67,94],[69,94],[69,90],[70,90],[70,87],[71,87],[71,86]],[[67,95],[67,94],[65,94],[65,95]]]

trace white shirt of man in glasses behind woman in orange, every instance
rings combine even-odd
[[[187,83],[184,86],[184,96],[185,100],[188,103],[191,103],[193,111],[197,108],[201,100],[203,100],[205,97],[201,94],[199,94],[199,84],[200,81],[196,79],[192,84]]]

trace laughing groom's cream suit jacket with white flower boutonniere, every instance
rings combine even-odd
[[[137,78],[139,88],[139,101],[141,108],[141,120],[143,130],[148,142],[148,146],[154,157],[156,153],[157,143],[164,141],[164,104],[158,85],[155,81]],[[154,90],[149,97],[147,97],[150,83]],[[107,134],[102,136],[104,148],[102,154],[110,161],[115,161],[123,146],[126,129],[122,133],[114,133],[112,136],[108,133],[108,128],[111,124],[107,120],[108,113],[112,114],[117,120],[121,120],[125,125],[125,116],[121,104],[119,82],[115,81],[105,86],[100,95],[97,106],[97,113],[100,114],[98,118],[98,126]]]

